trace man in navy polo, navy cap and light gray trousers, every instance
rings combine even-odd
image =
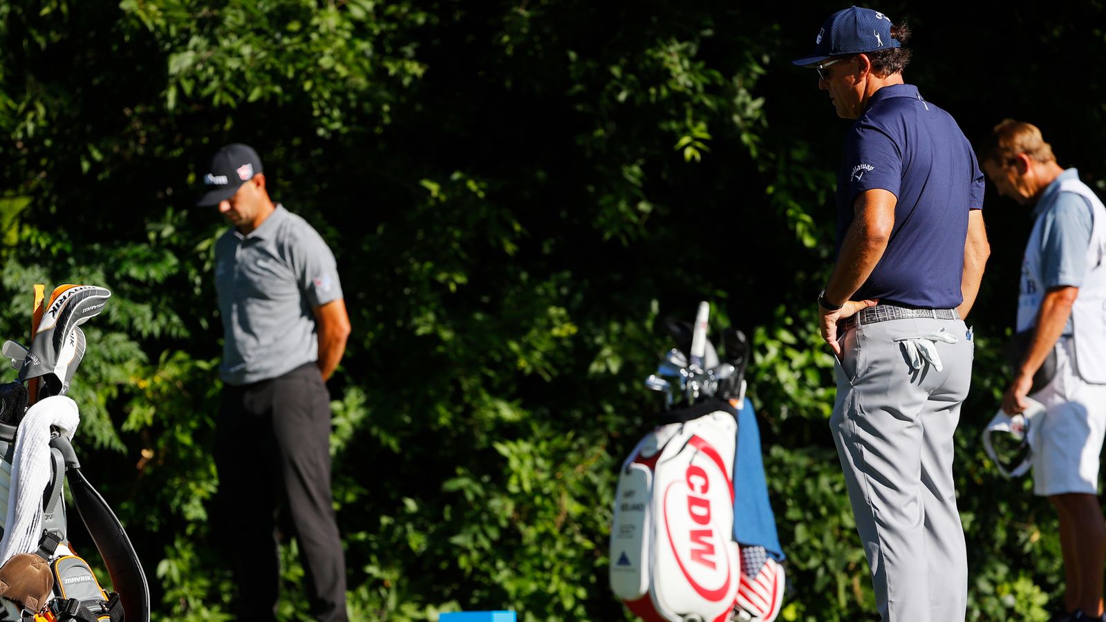
[[[971,383],[962,317],[990,253],[983,175],[952,117],[904,83],[909,30],[831,15],[795,64],[855,120],[837,175],[837,261],[818,294],[837,360],[830,422],[885,621],[964,619],[952,435]]]

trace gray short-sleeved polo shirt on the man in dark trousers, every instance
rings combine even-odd
[[[312,309],[342,298],[342,284],[334,255],[303,218],[278,204],[249,235],[231,227],[215,246],[215,284],[223,382],[249,384],[319,360]]]

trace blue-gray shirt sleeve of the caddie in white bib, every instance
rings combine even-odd
[[[1056,203],[1042,217],[1042,284],[1045,289],[1082,286],[1094,225],[1091,206],[1079,195],[1060,193]]]

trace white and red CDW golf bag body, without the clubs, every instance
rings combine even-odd
[[[737,422],[718,410],[655,428],[624,463],[611,588],[649,621],[729,620],[741,579],[733,541]]]

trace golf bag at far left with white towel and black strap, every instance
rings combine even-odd
[[[149,589],[131,540],[81,471],[70,443],[80,415],[64,394],[84,356],[79,328],[111,292],[35,286],[31,346],[3,344],[19,370],[0,385],[0,622],[148,622]],[[24,386],[25,383],[25,386]],[[67,537],[64,484],[117,592],[106,592]]]

